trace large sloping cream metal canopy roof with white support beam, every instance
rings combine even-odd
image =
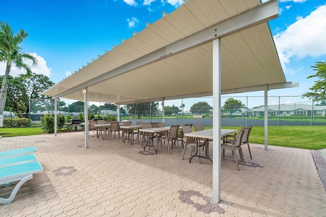
[[[212,96],[213,46],[221,38],[222,94],[291,87],[268,20],[277,1],[189,0],[46,90],[53,98],[130,104]]]

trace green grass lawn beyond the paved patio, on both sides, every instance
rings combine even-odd
[[[212,127],[205,127],[210,129]],[[222,127],[239,130],[240,127]],[[268,127],[268,145],[319,150],[326,148],[326,126]],[[0,128],[0,136],[29,136],[45,134],[41,128]],[[249,142],[264,144],[264,127],[253,127]]]

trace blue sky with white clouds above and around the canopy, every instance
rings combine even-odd
[[[58,83],[132,37],[133,31],[141,32],[146,22],[161,18],[162,11],[169,14],[181,4],[182,0],[17,0],[15,5],[2,1],[6,10],[1,11],[0,20],[15,33],[20,28],[28,32],[21,47],[39,60],[32,70]],[[300,96],[314,84],[307,79],[314,74],[311,66],[326,61],[326,0],[280,0],[279,18],[269,25],[286,80],[299,82],[300,87],[270,90],[268,95]],[[4,73],[2,64],[0,75]],[[22,73],[13,68],[10,75]],[[232,96],[263,96],[263,92]],[[187,110],[196,102],[183,103]],[[170,104],[181,105],[181,100],[166,103]]]

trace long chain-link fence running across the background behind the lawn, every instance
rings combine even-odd
[[[320,98],[320,96],[318,96]],[[326,97],[326,96],[323,96]],[[240,108],[222,108],[222,126],[262,126],[265,108],[264,97],[221,97],[221,104],[225,105],[228,99],[240,101]],[[270,126],[291,126],[291,125],[326,125],[326,103],[323,100],[315,101],[314,98],[308,99],[302,96],[270,96],[268,97],[268,125]],[[212,97],[192,98],[174,100],[176,105],[188,104],[185,108],[191,108],[196,102],[207,102],[212,106]],[[169,101],[165,102],[167,105]],[[160,104],[160,102],[159,102]],[[64,116],[71,115],[78,118],[79,114],[84,116],[84,104],[66,104],[58,100],[58,114]],[[244,106],[243,106],[244,105]],[[137,111],[120,110],[121,120],[124,119],[161,119],[161,108],[156,110]],[[185,109],[180,106],[178,110],[165,111],[165,119],[174,120],[201,120],[206,122],[206,126],[212,126],[212,110]],[[51,99],[30,100],[30,113],[17,114],[14,112],[4,113],[4,127],[30,127],[33,123],[39,123],[44,114],[55,114],[55,101]],[[94,117],[106,118],[108,116],[117,117],[115,109],[100,108],[89,106],[89,114]],[[91,115],[90,115],[91,116]],[[205,120],[203,120],[205,119]],[[145,121],[145,120],[144,120]],[[195,121],[196,122],[196,121]]]

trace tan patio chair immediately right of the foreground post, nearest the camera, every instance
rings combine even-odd
[[[239,164],[238,164],[238,159],[236,156],[236,150],[239,151],[239,156],[240,156],[240,160],[241,162],[243,162],[243,165],[246,165],[246,163],[244,163],[244,158],[243,158],[243,153],[242,153],[242,149],[241,149],[241,140],[242,140],[242,136],[244,133],[244,129],[241,128],[238,133],[236,134],[235,138],[230,139],[230,138],[222,138],[223,143],[221,144],[221,148],[223,149],[223,160],[225,160],[225,150],[231,150],[233,151],[233,156],[234,156],[234,160],[235,160],[235,164],[238,170],[240,170],[239,168]],[[227,141],[227,142],[225,142]]]

